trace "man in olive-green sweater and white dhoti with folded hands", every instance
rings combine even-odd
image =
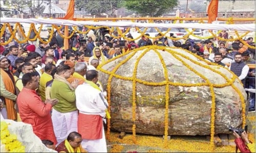
[[[51,98],[59,100],[52,110],[57,145],[64,141],[71,132],[77,132],[78,112],[75,103],[75,89],[78,86],[78,80],[70,84],[67,81],[70,74],[71,70],[68,65],[59,65],[51,88]]]

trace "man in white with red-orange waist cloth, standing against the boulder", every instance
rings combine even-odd
[[[75,90],[78,114],[78,133],[82,135],[82,147],[89,152],[107,152],[103,118],[108,102],[96,85],[98,72],[89,70],[86,83]]]

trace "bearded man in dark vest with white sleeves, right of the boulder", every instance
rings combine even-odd
[[[242,61],[241,53],[236,53],[236,55],[234,55],[234,61],[235,62],[231,63],[229,66],[229,69],[238,76],[245,86],[245,77],[248,74],[249,66]]]

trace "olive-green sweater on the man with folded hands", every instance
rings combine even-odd
[[[68,113],[77,110],[75,91],[71,90],[68,84],[64,82],[53,81],[51,98],[59,100],[53,108],[60,113]]]

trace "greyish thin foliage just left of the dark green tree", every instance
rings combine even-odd
[[[122,1],[116,0],[79,0],[75,1],[75,7],[77,10],[81,10],[81,8],[83,8],[86,12],[91,13],[92,15],[106,13],[113,16],[115,10],[122,6],[121,2]]]

